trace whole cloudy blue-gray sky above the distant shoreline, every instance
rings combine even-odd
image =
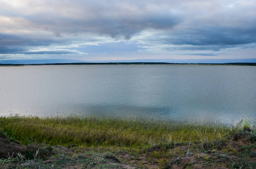
[[[255,0],[1,0],[0,63],[256,62]]]

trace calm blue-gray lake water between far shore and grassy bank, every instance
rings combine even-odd
[[[256,66],[0,67],[0,115],[107,115],[235,124],[256,115]]]

